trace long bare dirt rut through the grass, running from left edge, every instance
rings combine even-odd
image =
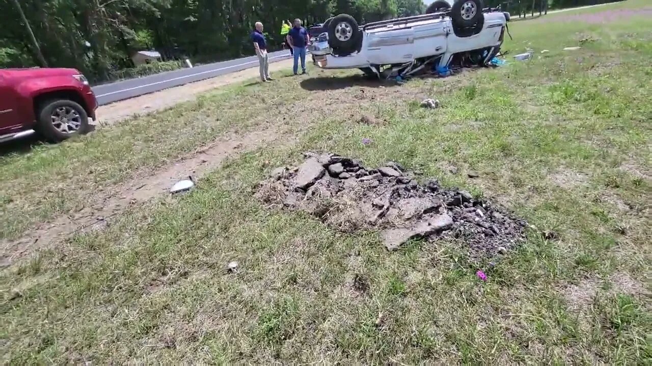
[[[1,242],[0,267],[9,266],[34,249],[52,247],[74,232],[102,229],[108,225],[111,217],[124,212],[128,206],[168,193],[175,182],[188,176],[201,178],[228,156],[273,143],[279,136],[277,126],[241,136],[227,135],[151,175],[138,176],[119,186],[106,187],[96,192],[93,200],[82,210],[42,223],[18,240]]]

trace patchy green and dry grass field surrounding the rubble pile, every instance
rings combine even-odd
[[[3,363],[651,363],[651,11],[629,0],[515,22],[503,49],[535,57],[501,68],[401,86],[312,70],[5,154],[10,248],[225,135],[278,135],[188,195],[14,260],[0,277]],[[441,109],[419,107],[426,97]],[[394,160],[556,238],[530,231],[486,262],[443,240],[388,253],[377,232],[254,199],[306,150]]]

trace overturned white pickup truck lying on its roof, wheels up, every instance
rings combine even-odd
[[[452,0],[451,0],[452,1]],[[409,76],[426,66],[443,68],[454,57],[486,65],[500,51],[509,13],[484,8],[482,0],[439,0],[427,14],[376,21],[360,27],[340,14],[308,49],[320,68],[359,68],[378,77]]]

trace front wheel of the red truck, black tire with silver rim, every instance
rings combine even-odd
[[[88,114],[72,100],[48,100],[37,111],[35,130],[47,141],[58,143],[88,132]]]

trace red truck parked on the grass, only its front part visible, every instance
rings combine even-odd
[[[0,142],[34,130],[59,142],[89,130],[97,100],[74,68],[0,70]]]

